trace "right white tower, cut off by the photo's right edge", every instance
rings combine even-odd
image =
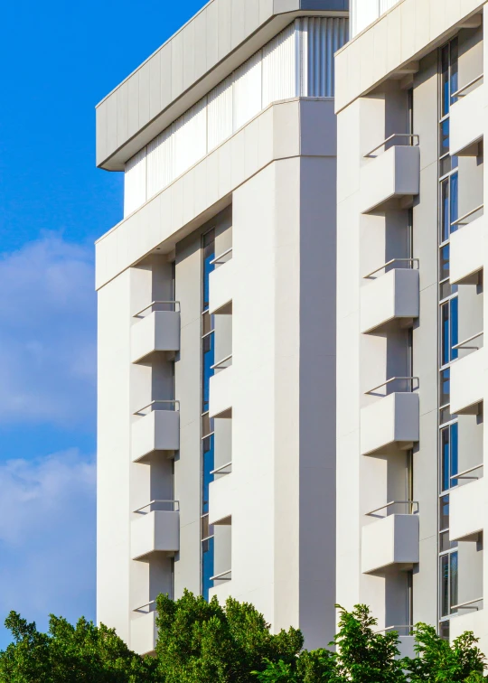
[[[356,0],[336,55],[337,602],[379,628],[483,613],[488,124],[479,0]]]

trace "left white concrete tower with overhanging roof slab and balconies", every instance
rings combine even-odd
[[[346,0],[211,0],[97,108],[98,619],[155,597],[335,626],[333,53]]]

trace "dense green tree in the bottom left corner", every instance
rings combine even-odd
[[[131,652],[113,629],[80,619],[72,626],[51,615],[49,632],[11,612],[12,642],[0,653],[2,683],[143,683],[153,681],[155,661]]]

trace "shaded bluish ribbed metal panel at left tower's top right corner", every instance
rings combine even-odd
[[[347,42],[348,33],[349,23],[345,17],[305,17],[296,20],[300,95],[333,98],[333,54]]]

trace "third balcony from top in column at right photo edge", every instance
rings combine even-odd
[[[461,342],[458,347],[472,343],[480,335]],[[484,349],[473,351],[451,365],[451,413],[477,415],[483,403]]]

